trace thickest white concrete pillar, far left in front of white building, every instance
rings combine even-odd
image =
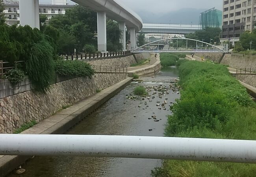
[[[40,29],[39,0],[20,0],[20,25]]]

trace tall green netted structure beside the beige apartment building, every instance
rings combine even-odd
[[[201,30],[204,30],[206,27],[221,28],[222,11],[213,7],[212,9],[200,13],[199,25]]]

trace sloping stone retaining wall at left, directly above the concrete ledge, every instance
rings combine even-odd
[[[37,122],[128,77],[127,74],[95,74],[51,86],[46,94],[33,90],[0,99],[0,133],[13,133],[22,124]]]

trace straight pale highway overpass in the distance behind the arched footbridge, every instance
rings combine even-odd
[[[143,24],[143,33],[189,34],[200,30],[199,25]]]

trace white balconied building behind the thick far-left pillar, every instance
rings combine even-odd
[[[53,0],[54,1],[54,0]],[[52,1],[52,2],[53,2]],[[55,0],[56,3],[67,2],[67,0]],[[57,2],[58,1],[58,2]],[[39,13],[46,15],[47,20],[55,15],[65,14],[67,9],[74,5],[59,5],[59,4],[39,4]],[[6,16],[6,24],[14,25],[20,23],[19,0],[4,0],[5,10],[3,13]]]

